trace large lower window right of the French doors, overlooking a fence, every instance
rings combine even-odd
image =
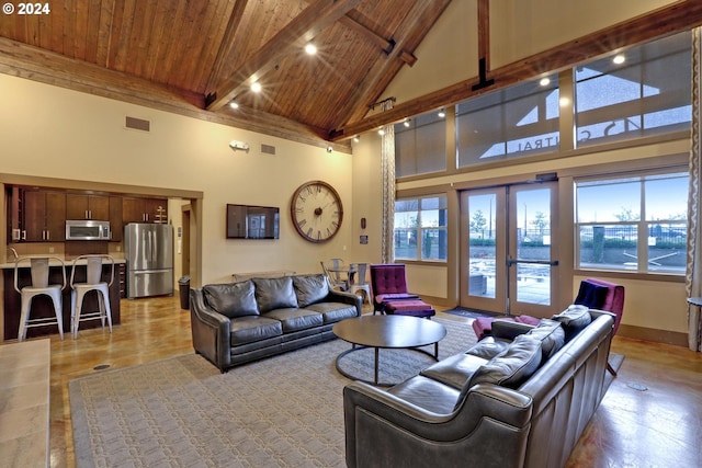
[[[684,274],[687,172],[576,182],[576,264]]]

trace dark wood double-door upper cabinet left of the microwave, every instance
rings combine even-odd
[[[66,240],[66,194],[24,191],[22,240],[63,242]]]

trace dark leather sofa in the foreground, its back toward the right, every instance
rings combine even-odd
[[[570,306],[507,322],[389,389],[343,390],[349,467],[563,467],[604,392],[614,324]]]

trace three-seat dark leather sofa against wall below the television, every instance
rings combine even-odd
[[[193,347],[224,373],[238,364],[335,339],[333,324],[359,317],[361,300],[331,289],[321,274],[192,288]]]

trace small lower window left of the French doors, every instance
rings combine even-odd
[[[395,202],[395,259],[446,261],[446,197]]]

